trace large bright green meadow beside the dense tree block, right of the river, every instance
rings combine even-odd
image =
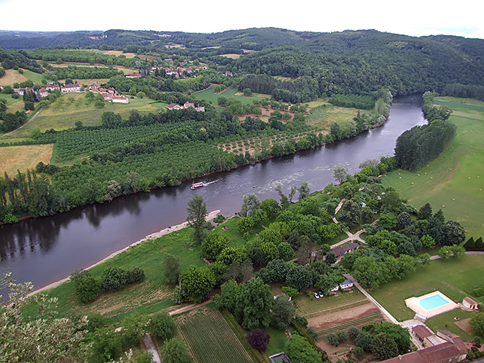
[[[447,150],[416,172],[389,173],[382,183],[416,208],[427,202],[434,212],[442,208],[446,219],[458,221],[467,238],[476,239],[484,236],[484,112],[460,108],[449,121],[457,125],[457,134]]]

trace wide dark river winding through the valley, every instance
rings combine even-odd
[[[286,194],[303,181],[312,191],[323,189],[335,182],[332,174],[337,166],[354,173],[364,160],[392,156],[395,140],[403,131],[426,123],[421,107],[420,95],[395,97],[389,120],[382,127],[317,149],[200,178],[196,181],[209,185],[196,191],[184,183],[57,216],[3,225],[0,273],[12,271],[18,282],[32,281],[35,288],[46,286],[148,234],[182,223],[187,203],[196,193],[203,196],[209,212],[221,210],[230,216],[240,209],[244,194],[279,200],[274,191],[279,183]]]

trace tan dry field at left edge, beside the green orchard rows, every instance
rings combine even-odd
[[[54,145],[24,145],[0,147],[0,175],[6,171],[9,176],[17,173],[17,169],[24,172],[35,169],[40,161],[50,162]]]

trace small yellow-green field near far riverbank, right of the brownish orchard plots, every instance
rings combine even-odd
[[[308,111],[306,123],[324,130],[329,130],[331,124],[335,122],[341,127],[346,127],[346,124],[355,118],[358,111],[358,109],[339,107],[333,104],[322,104]]]

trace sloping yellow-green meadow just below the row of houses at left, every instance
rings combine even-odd
[[[63,95],[39,113],[35,120],[26,124],[22,129],[15,131],[12,137],[29,137],[34,129],[39,129],[41,132],[48,129],[68,129],[74,127],[77,121],[81,121],[84,126],[98,125],[101,124],[102,113],[106,111],[118,113],[122,118],[128,118],[131,110],[138,110],[140,113],[158,112],[159,109],[153,106],[151,102],[153,100],[149,98],[134,98],[129,100],[129,104],[107,103],[103,109],[95,109],[94,102],[86,104],[84,93]]]

